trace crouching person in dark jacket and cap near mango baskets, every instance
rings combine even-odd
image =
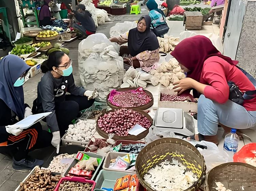
[[[75,18],[81,23],[81,25],[77,23],[73,24],[73,28],[83,35],[80,39],[96,33],[96,27],[92,19],[92,15],[85,9],[86,7],[84,4],[79,4],[76,5],[76,10],[72,10],[72,13],[70,13],[71,16],[75,16]]]

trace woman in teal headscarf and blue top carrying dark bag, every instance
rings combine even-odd
[[[157,27],[160,24],[165,24],[165,15],[162,10],[160,10],[155,2],[155,0],[148,0],[146,3],[148,10],[149,10],[149,16],[151,18],[151,24],[153,24],[154,27]]]

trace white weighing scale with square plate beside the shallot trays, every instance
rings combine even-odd
[[[158,108],[155,126],[159,131],[172,131],[185,136],[195,134],[194,119],[191,115],[177,108]]]

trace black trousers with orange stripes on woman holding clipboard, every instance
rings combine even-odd
[[[30,151],[50,146],[52,139],[52,134],[44,131],[39,122],[24,129],[18,136],[10,134],[1,136],[5,136],[7,145],[0,146],[0,153],[14,157],[17,161],[27,158]]]

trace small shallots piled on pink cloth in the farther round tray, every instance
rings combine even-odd
[[[138,107],[152,100],[145,91],[118,92],[112,98],[112,104],[118,107]]]

